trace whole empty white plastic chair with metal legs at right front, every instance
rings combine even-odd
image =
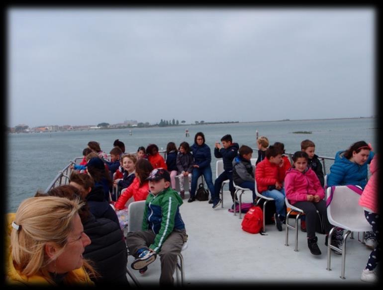
[[[331,195],[331,187],[326,190],[327,199]],[[327,246],[327,270],[330,271],[331,249],[342,254],[342,267],[340,278],[345,279],[346,263],[346,241],[352,232],[371,231],[371,225],[366,220],[363,208],[358,204],[360,194],[349,188],[347,185],[335,186],[332,200],[327,207],[327,217],[334,227],[328,235]],[[346,233],[343,235],[342,249],[331,245],[331,235],[336,227],[343,228]]]

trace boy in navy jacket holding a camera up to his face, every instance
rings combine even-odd
[[[213,208],[218,207],[222,202],[219,198],[219,192],[221,190],[222,182],[229,179],[229,190],[231,198],[234,201],[234,186],[233,186],[233,159],[238,155],[239,145],[233,143],[231,135],[225,135],[221,138],[222,146],[219,142],[215,143],[214,156],[215,158],[222,158],[223,172],[214,181],[214,197]]]

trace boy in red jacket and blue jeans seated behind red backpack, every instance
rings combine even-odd
[[[285,189],[283,188],[286,170],[282,153],[279,147],[270,145],[266,151],[266,159],[259,162],[255,168],[258,192],[275,200],[276,226],[280,232],[286,217]]]

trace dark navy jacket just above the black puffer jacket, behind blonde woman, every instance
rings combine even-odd
[[[91,192],[85,197],[91,213],[98,218],[107,218],[116,222],[119,226],[119,221],[116,212],[109,203],[104,200],[104,191],[101,186],[95,186]]]

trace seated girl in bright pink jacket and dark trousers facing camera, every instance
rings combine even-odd
[[[315,236],[315,225],[319,218],[316,211],[323,217],[326,231],[326,243],[328,232],[332,226],[327,218],[326,202],[323,200],[324,191],[315,172],[307,167],[308,155],[304,151],[296,151],[292,157],[293,167],[286,172],[285,193],[290,204],[304,211],[306,216],[307,244],[313,255],[320,255],[318,238]],[[327,244],[326,244],[327,245]]]

